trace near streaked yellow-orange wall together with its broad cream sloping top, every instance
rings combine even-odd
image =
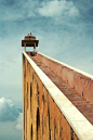
[[[93,126],[24,52],[23,140],[79,139],[93,140]]]

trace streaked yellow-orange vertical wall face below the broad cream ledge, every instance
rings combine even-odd
[[[78,140],[24,54],[23,140]]]

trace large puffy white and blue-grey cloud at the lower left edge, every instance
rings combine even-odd
[[[14,122],[17,119],[19,112],[15,109],[10,99],[0,99],[0,122]]]

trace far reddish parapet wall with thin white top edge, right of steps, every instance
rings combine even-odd
[[[41,53],[38,53],[37,56],[40,62],[50,67],[53,73],[55,73],[71,88],[76,89],[76,91],[78,91],[78,93],[87,101],[93,104],[93,75],[87,74]]]

